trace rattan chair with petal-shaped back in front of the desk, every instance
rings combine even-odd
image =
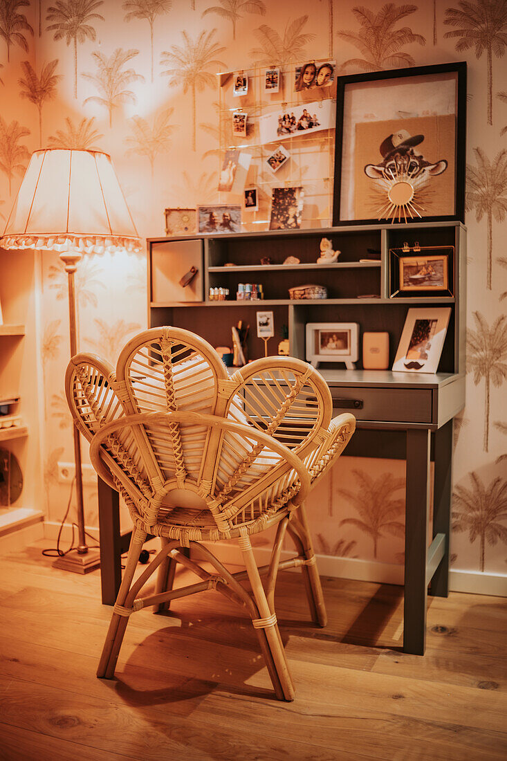
[[[304,503],[349,441],[354,417],[331,420],[330,390],[305,362],[268,357],[228,377],[209,343],[174,327],[129,341],[116,373],[97,356],[75,356],[65,393],[95,470],[123,495],[134,524],[97,676],[113,677],[132,613],[161,611],[177,597],[215,588],[244,606],[276,696],[292,700],[273,604],[276,576],[280,568],[301,568],[311,617],[325,626]],[[271,559],[258,568],[250,535],[273,525]],[[297,554],[281,560],[286,532]],[[132,583],[148,534],[161,537],[162,548]],[[245,572],[231,574],[212,554],[209,545],[223,540],[238,541]],[[189,547],[190,557],[181,551]],[[196,574],[196,584],[173,588],[178,562]],[[155,594],[140,597],[157,569]],[[240,584],[245,579],[251,594]]]

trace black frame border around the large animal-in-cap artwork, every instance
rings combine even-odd
[[[467,64],[466,62],[453,62],[430,66],[417,66],[413,68],[396,68],[390,71],[372,72],[367,74],[353,74],[336,78],[336,142],[334,161],[333,183],[333,225],[342,224],[378,224],[382,217],[376,218],[350,218],[349,215],[340,213],[343,209],[343,194],[350,193],[350,188],[343,182],[343,151],[344,123],[349,116],[345,109],[346,91],[353,84],[375,83],[390,79],[433,77],[454,73],[456,76],[456,123],[454,132],[454,213],[414,217],[407,221],[461,221],[464,223],[465,212],[465,171],[466,171],[466,132],[467,132]],[[421,80],[422,81],[422,80]],[[395,118],[395,115],[393,115]],[[400,118],[400,117],[398,117]],[[391,220],[386,220],[391,221]],[[404,224],[405,219],[395,219],[393,224]]]

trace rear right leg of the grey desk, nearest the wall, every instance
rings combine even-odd
[[[433,489],[433,536],[445,534],[444,556],[433,575],[429,594],[449,593],[449,540],[451,537],[452,420],[435,432],[435,486]]]

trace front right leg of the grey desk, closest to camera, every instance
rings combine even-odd
[[[426,645],[429,444],[427,429],[407,431],[403,651],[414,655],[424,655]]]

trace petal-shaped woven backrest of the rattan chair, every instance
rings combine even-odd
[[[261,492],[266,504],[282,498],[294,476],[294,463],[285,462],[292,456],[269,447],[266,435],[304,458],[317,451],[332,412],[327,384],[305,362],[266,358],[228,377],[209,343],[173,327],[129,341],[116,374],[92,355],[73,358],[66,393],[89,441],[110,424],[94,464],[105,463],[140,514],[152,521],[161,509],[187,505],[193,516],[210,511],[221,530],[225,515],[230,527],[247,509],[262,512],[251,508]],[[185,413],[228,425],[199,425]],[[128,425],[113,425],[122,418]]]

